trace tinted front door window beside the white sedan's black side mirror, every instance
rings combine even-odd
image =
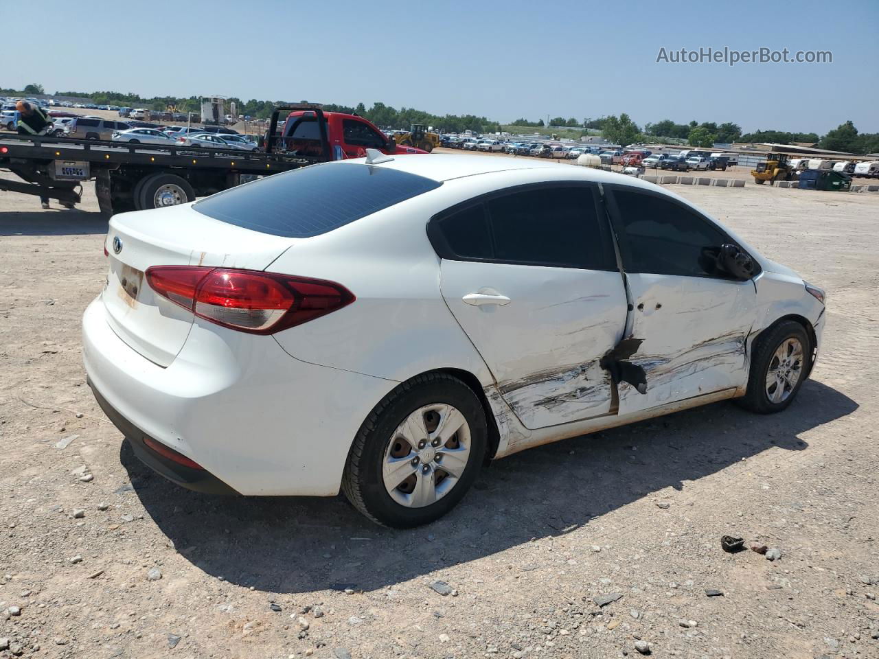
[[[629,272],[704,277],[716,274],[712,253],[726,237],[701,215],[669,199],[614,191],[628,243]]]

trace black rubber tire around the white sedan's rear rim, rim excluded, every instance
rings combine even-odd
[[[423,508],[397,503],[385,489],[382,463],[396,428],[414,410],[442,402],[461,411],[470,428],[470,454],[461,478],[445,496]],[[487,445],[482,403],[473,390],[447,373],[426,373],[396,387],[367,416],[348,453],[342,491],[354,508],[375,523],[411,528],[441,518],[461,501],[476,480]]]

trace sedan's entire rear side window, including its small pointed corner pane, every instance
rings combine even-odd
[[[541,185],[432,221],[440,257],[585,270],[615,269],[592,187]]]

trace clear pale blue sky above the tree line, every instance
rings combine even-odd
[[[879,2],[161,5],[42,0],[33,25],[4,31],[4,51],[22,56],[0,87],[382,101],[502,122],[628,112],[639,124],[818,134],[852,119],[879,132]],[[660,47],[829,50],[833,61],[657,63]]]

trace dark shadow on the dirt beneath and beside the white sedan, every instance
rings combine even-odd
[[[146,511],[207,574],[279,593],[374,590],[570,532],[772,447],[803,451],[800,433],[857,408],[810,380],[781,414],[720,402],[541,446],[498,460],[447,517],[410,531],[372,524],[341,496],[201,495],[153,474],[127,442],[120,457]]]

